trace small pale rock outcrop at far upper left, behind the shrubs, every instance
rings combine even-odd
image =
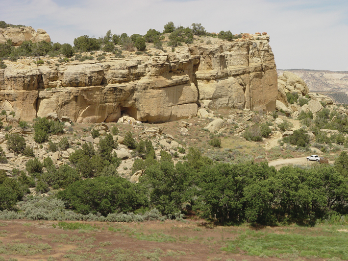
[[[34,30],[31,26],[0,28],[0,44],[8,39],[12,40],[14,46],[20,46],[24,41],[33,43],[46,41],[50,42],[50,35],[44,29]]]

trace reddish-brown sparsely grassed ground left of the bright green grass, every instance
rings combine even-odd
[[[2,241],[0,243],[0,260],[3,260],[2,257],[6,261],[10,258],[15,258],[18,261],[265,260],[221,250],[221,247],[226,246],[227,240],[245,232],[247,227],[244,226],[208,228],[204,226],[202,221],[80,222],[96,226],[95,230],[81,231],[60,229],[57,226],[58,221],[14,220],[1,221],[0,223],[3,225],[0,227],[0,231],[6,231],[5,234],[1,234],[6,236],[0,237],[0,241]],[[56,228],[53,228],[53,225],[56,225]],[[64,237],[64,235],[68,236]],[[143,238],[138,239],[137,237]],[[151,238],[165,242],[149,241]],[[15,249],[18,244],[35,246],[46,243],[51,246],[51,249],[36,255],[20,254],[16,251],[1,252],[1,247],[4,246],[7,246],[7,249]],[[17,248],[19,247],[17,246]],[[146,256],[146,253],[149,253],[149,256]],[[280,259],[267,258],[267,260]]]

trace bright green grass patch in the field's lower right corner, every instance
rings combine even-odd
[[[306,231],[307,235],[291,229],[289,229],[290,233],[286,234],[252,231],[229,241],[222,250],[236,254],[242,251],[246,255],[259,257],[287,258],[289,255],[295,255],[304,258],[348,260],[347,233],[326,230],[324,227],[319,231],[311,232],[308,228]]]

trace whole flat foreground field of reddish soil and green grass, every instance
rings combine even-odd
[[[1,221],[0,261],[348,260],[348,226]]]

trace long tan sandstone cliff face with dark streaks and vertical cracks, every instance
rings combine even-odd
[[[184,119],[196,116],[199,104],[273,111],[277,73],[268,43],[267,35],[245,35],[174,52],[150,49],[153,56],[124,51],[124,58],[59,66],[49,57],[41,66],[5,61],[0,109],[23,120],[56,112],[76,122],[112,122],[123,113],[148,122]]]

